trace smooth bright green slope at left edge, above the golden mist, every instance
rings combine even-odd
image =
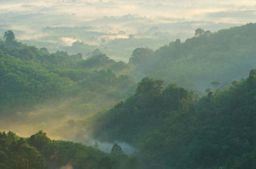
[[[21,61],[0,53],[1,109],[32,106],[40,99],[58,96],[72,81],[50,73],[38,63]]]

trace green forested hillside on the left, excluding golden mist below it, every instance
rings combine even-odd
[[[116,63],[100,53],[87,60],[80,53],[50,54],[46,48],[27,46],[14,38],[0,40],[1,114],[10,110],[28,111],[49,99],[65,97],[79,97],[80,105],[86,103],[87,107],[96,108],[96,112],[97,107],[113,105],[131,92],[132,78],[110,69],[122,71],[123,62]],[[105,66],[108,62],[111,64]]]

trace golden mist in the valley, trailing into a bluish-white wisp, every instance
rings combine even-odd
[[[43,130],[50,139],[80,142],[92,147],[95,147],[95,141],[97,141],[97,148],[106,153],[111,152],[115,143],[122,147],[125,154],[135,151],[135,148],[125,142],[109,143],[94,139],[92,133],[86,129],[89,125],[86,119],[104,108],[93,107],[81,110],[78,106],[74,107],[75,102],[77,102],[76,98],[51,100],[32,111],[16,112],[5,116],[0,119],[0,131],[13,131],[18,136],[30,137],[39,130]],[[72,166],[68,164],[61,169],[72,169]]]

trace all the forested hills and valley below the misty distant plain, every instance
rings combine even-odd
[[[51,53],[5,31],[0,168],[255,168],[255,36],[255,23],[198,28],[125,62],[99,48]]]

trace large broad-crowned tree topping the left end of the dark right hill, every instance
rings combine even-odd
[[[141,82],[137,84],[136,94],[146,93],[149,96],[157,96],[161,93],[163,83],[164,81],[162,80],[154,80],[149,77],[143,78]]]

